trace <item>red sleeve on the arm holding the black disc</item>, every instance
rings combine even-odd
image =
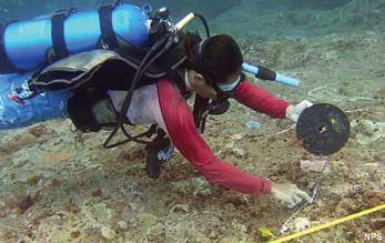
[[[272,118],[284,119],[288,103],[280,100],[266,90],[250,82],[241,82],[235,91],[235,100],[254,111],[265,113]]]

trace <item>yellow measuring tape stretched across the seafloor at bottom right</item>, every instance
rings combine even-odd
[[[274,241],[270,241],[269,243],[281,243],[281,242],[286,242],[286,241],[290,241],[290,240],[293,240],[293,239],[302,237],[302,236],[304,236],[306,234],[311,234],[311,233],[324,230],[326,227],[331,227],[331,226],[344,223],[346,221],[351,221],[351,220],[354,220],[356,217],[361,217],[361,216],[364,216],[364,215],[377,212],[379,210],[385,210],[385,204],[382,204],[379,206],[375,206],[375,207],[372,207],[372,209],[368,209],[368,210],[364,210],[364,211],[362,211],[359,213],[355,213],[355,214],[352,214],[352,215],[348,215],[348,216],[345,216],[345,217],[342,217],[342,219],[338,219],[338,220],[335,220],[335,221],[332,221],[332,222],[327,222],[327,223],[324,223],[324,224],[321,224],[321,225],[317,225],[317,226],[314,226],[314,227],[310,227],[310,229],[301,231],[298,233],[294,233],[294,234],[291,234],[291,235],[287,235],[287,236],[274,240]]]

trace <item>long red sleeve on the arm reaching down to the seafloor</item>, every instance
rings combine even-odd
[[[175,148],[210,182],[246,194],[266,194],[271,182],[221,161],[195,129],[190,108],[168,80],[158,82],[162,117]]]

